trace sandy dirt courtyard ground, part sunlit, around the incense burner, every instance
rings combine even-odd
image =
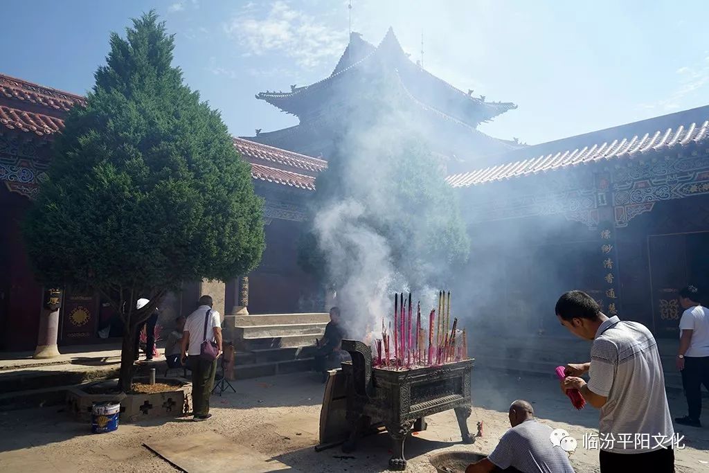
[[[314,374],[235,382],[237,394],[213,396],[213,418],[160,419],[121,425],[116,432],[91,434],[89,425],[72,421],[60,408],[0,413],[0,471],[2,472],[175,472],[143,443],[174,439],[211,430],[237,445],[252,449],[255,457],[275,459],[291,472],[386,472],[389,439],[386,434],[362,440],[359,450],[343,454],[338,447],[315,452],[323,385]],[[443,451],[489,453],[509,427],[507,408],[522,398],[535,406],[537,418],[566,429],[579,442],[571,462],[576,472],[598,472],[598,451],[586,450],[584,434],[597,432],[598,412],[588,406],[576,411],[552,378],[474,372],[474,411],[471,432],[483,421],[484,435],[474,445],[462,445],[452,411],[428,418],[428,430],[406,440],[408,471],[435,472],[429,457]],[[670,395],[673,415],[686,412],[684,399]],[[709,426],[705,408],[704,425]],[[677,472],[709,472],[709,428],[678,428],[686,447],[676,452]],[[208,459],[204,459],[205,464]],[[204,471],[210,471],[205,469]],[[244,472],[238,462],[223,471]],[[264,471],[268,471],[267,469]]]

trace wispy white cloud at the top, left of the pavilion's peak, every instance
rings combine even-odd
[[[330,62],[347,45],[347,33],[335,30],[284,1],[274,1],[262,15],[251,2],[223,28],[247,52],[277,52],[292,57],[298,66],[313,68]],[[262,12],[261,12],[262,13]]]

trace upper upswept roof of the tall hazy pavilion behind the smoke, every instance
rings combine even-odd
[[[472,91],[466,94],[414,64],[401,48],[391,28],[376,47],[362,40],[358,33],[352,33],[350,43],[329,77],[305,87],[291,86],[290,92],[261,92],[256,98],[294,114],[302,121],[317,115],[321,109],[328,109],[332,99],[338,100],[337,96],[347,89],[348,80],[362,74],[383,76],[386,69],[399,74],[407,89],[419,101],[471,126],[517,108],[510,102],[488,102],[484,96],[474,97]],[[333,87],[343,88],[337,90]]]

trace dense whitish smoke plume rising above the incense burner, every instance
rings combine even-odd
[[[398,155],[411,142],[411,136],[396,130],[410,132],[415,126],[391,104],[382,105],[374,115],[375,123],[370,119],[367,126],[347,121],[349,128],[339,143],[344,151],[330,159],[330,166],[337,167],[337,191],[318,203],[313,219],[328,279],[336,291],[334,304],[342,309],[350,337],[368,343],[381,338],[383,318],[387,324],[393,318],[394,293],[413,292],[414,310],[421,301],[421,311],[428,315],[440,289],[430,285],[440,281],[441,269],[432,264],[437,254],[435,242],[430,241],[435,222],[421,215],[425,208],[415,208],[392,191],[392,183],[406,174]],[[431,168],[426,178],[442,181],[433,160]],[[405,223],[402,215],[408,216]],[[399,226],[406,228],[391,230]]]

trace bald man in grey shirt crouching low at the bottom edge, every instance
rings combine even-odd
[[[495,450],[483,460],[470,464],[465,473],[521,472],[574,473],[569,455],[552,444],[552,428],[538,423],[534,409],[518,399],[510,406],[510,425]]]

